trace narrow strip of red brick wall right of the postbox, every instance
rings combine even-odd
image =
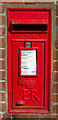
[[[58,114],[58,2],[56,4],[56,40],[54,45],[53,113]]]

